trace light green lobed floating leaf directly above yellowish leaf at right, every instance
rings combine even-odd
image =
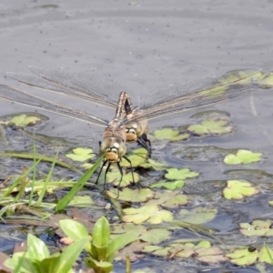
[[[224,158],[224,163],[227,165],[249,164],[260,161],[262,153],[253,153],[248,150],[240,149],[234,154],[228,154]]]

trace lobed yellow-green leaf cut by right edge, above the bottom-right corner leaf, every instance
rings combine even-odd
[[[273,236],[273,222],[269,219],[267,220],[254,220],[249,223],[240,223],[240,233],[246,236],[262,236],[271,237]]]

